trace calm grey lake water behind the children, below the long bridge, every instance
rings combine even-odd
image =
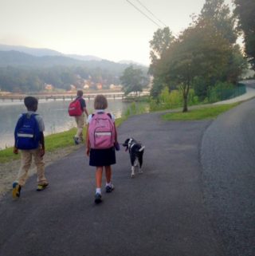
[[[45,135],[64,132],[76,126],[73,117],[69,116],[67,109],[69,100],[39,100],[37,112],[45,122]],[[86,100],[89,113],[93,112],[93,100]],[[121,99],[108,99],[108,112],[116,118],[128,108],[129,103]],[[0,150],[14,145],[14,128],[18,116],[26,112],[26,107],[21,101],[0,101]]]

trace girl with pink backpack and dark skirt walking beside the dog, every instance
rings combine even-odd
[[[105,170],[105,191],[110,193],[112,184],[112,164],[116,163],[115,149],[118,148],[115,117],[105,112],[108,107],[104,95],[97,95],[94,101],[96,113],[88,116],[86,136],[86,154],[89,156],[89,165],[96,167],[96,195],[95,203],[102,202],[101,185],[103,170]]]

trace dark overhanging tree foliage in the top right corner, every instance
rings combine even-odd
[[[234,14],[238,18],[238,29],[243,32],[245,53],[255,70],[255,1],[234,0]]]

